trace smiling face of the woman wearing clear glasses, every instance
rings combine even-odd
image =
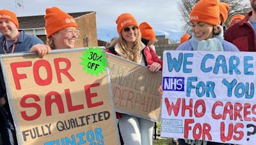
[[[54,46],[57,49],[75,48],[76,38],[79,36],[79,31],[76,27],[67,27],[52,34]]]

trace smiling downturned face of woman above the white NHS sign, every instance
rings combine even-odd
[[[204,22],[191,22],[192,31],[200,41],[212,38],[213,25]]]

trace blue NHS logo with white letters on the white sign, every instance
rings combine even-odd
[[[163,77],[163,90],[184,91],[184,78]]]

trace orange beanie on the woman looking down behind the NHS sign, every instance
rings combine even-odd
[[[190,21],[218,25],[220,22],[219,4],[218,0],[200,0],[189,13]]]

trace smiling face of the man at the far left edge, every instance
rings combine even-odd
[[[6,37],[7,40],[16,38],[19,33],[16,25],[7,19],[0,19],[0,32]]]

